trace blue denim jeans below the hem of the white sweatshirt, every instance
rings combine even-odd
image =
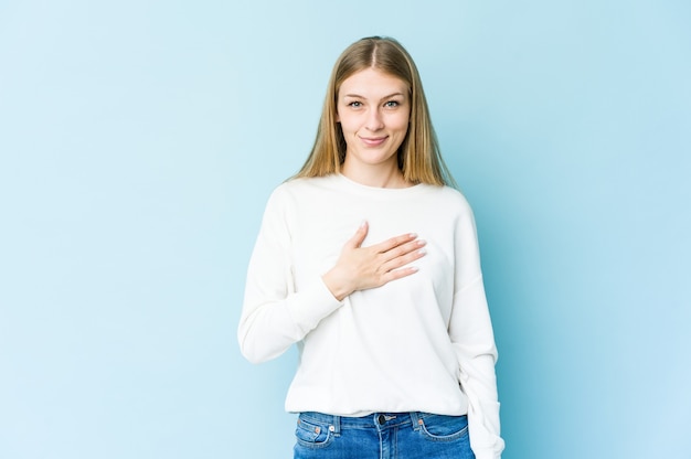
[[[475,459],[467,416],[301,413],[294,459]]]

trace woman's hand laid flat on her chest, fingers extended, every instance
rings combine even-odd
[[[363,222],[343,246],[336,266],[322,277],[339,301],[353,291],[381,287],[416,273],[417,268],[405,265],[425,256],[425,242],[418,239],[416,234],[403,234],[362,247],[368,231],[369,225]]]

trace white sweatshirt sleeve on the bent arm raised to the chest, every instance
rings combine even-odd
[[[277,189],[266,205],[245,285],[237,340],[242,354],[259,363],[283,354],[342,306],[321,280],[296,291],[293,277],[290,198]]]

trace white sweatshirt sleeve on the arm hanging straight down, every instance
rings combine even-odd
[[[467,206],[467,203],[466,203]],[[449,337],[460,367],[460,386],[468,396],[470,446],[477,459],[499,459],[499,402],[495,364],[497,348],[485,296],[472,211],[467,206],[456,234],[454,310]]]

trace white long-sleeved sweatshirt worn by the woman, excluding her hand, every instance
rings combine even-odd
[[[412,276],[338,301],[321,276],[362,221],[363,246],[416,233],[427,254]],[[279,185],[249,261],[238,341],[251,362],[298,344],[288,412],[468,414],[476,457],[501,456],[475,221],[454,189],[371,188],[341,174]]]

